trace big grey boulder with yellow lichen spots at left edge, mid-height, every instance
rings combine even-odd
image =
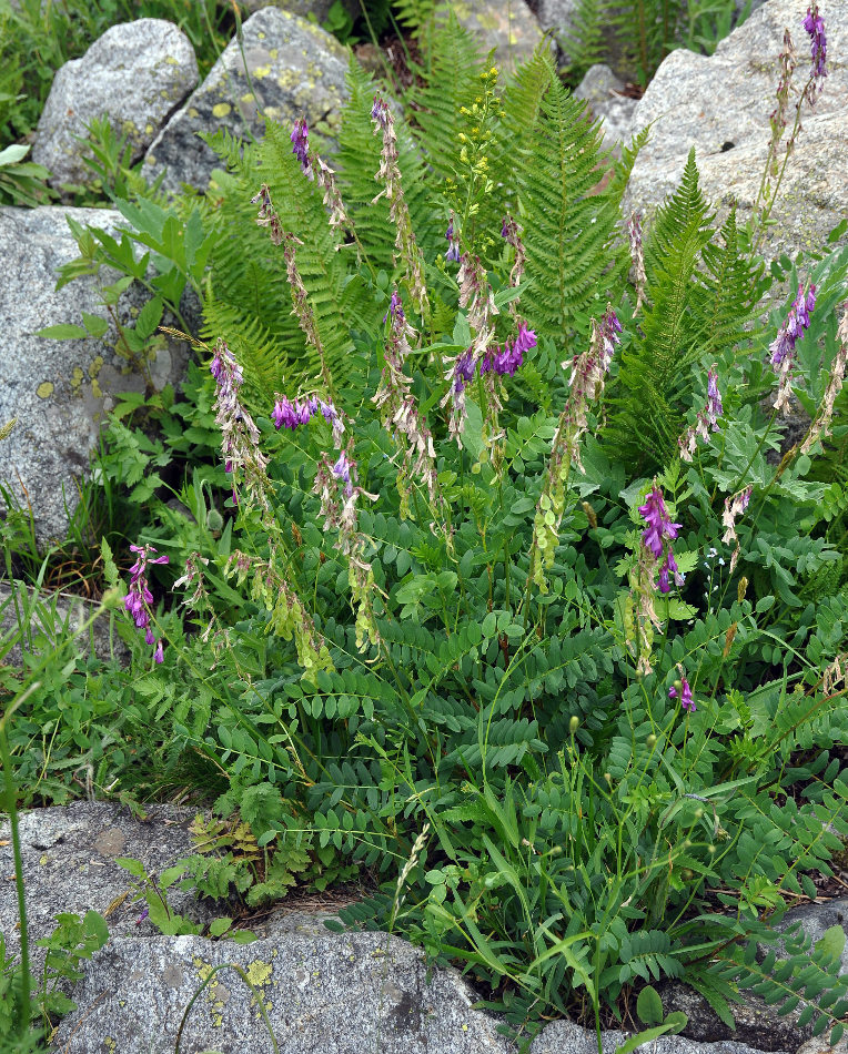
[[[144,391],[145,378],[130,371],[114,349],[118,333],[102,341],[52,341],[34,334],[60,323],[79,325],[83,312],[108,317],[97,282],[84,277],[55,291],[59,268],[79,256],[65,215],[114,231],[119,213],[104,209],[0,210],[0,422],[18,424],[3,442],[3,477],[16,500],[31,504],[40,545],[64,538],[65,501],[71,513],[79,503],[77,480],[89,470],[104,412],[114,395]],[[117,274],[107,273],[107,281]],[[148,300],[131,286],[118,305],[123,325]],[[189,358],[183,342],[163,339],[149,364],[154,386],[179,387]],[[6,507],[0,503],[0,513]]]

